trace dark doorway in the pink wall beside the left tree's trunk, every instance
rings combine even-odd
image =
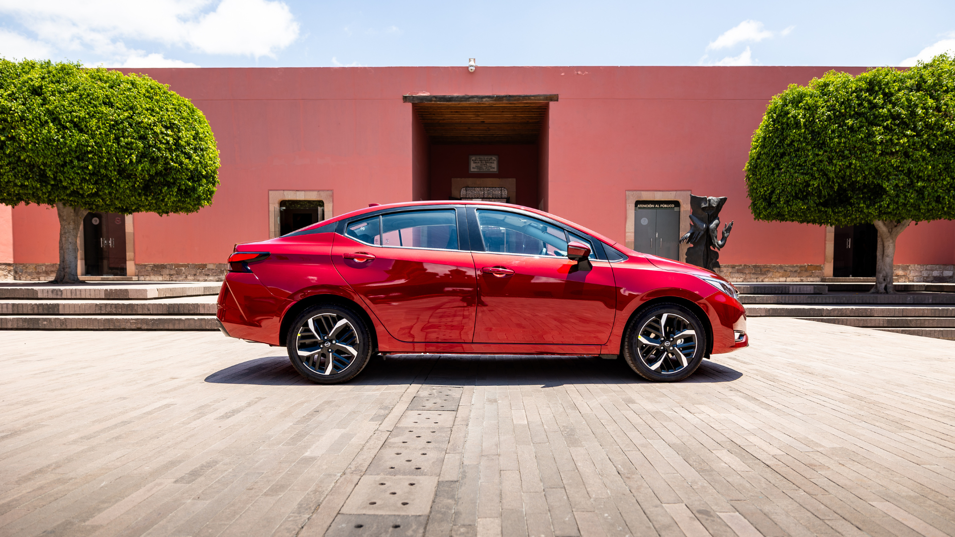
[[[116,212],[87,214],[83,256],[87,276],[125,276],[126,217]]]

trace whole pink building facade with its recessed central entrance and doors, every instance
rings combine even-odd
[[[673,237],[695,194],[728,197],[720,263],[733,281],[865,276],[853,257],[868,255],[864,229],[756,222],[746,197],[769,99],[830,69],[864,68],[137,70],[209,119],[221,185],[193,214],[88,216],[80,272],[217,280],[236,243],[371,203],[444,199],[541,208],[683,260]],[[0,277],[51,278],[57,243],[55,209],[0,205]],[[952,281],[955,222],[909,226],[895,262],[897,281]]]

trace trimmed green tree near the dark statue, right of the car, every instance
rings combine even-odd
[[[873,224],[876,285],[894,292],[896,240],[955,218],[955,59],[831,71],[773,97],[746,162],[756,220]]]

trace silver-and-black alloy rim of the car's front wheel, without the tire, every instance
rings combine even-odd
[[[680,315],[660,313],[640,327],[636,347],[647,368],[673,375],[686,368],[696,353],[696,332]]]

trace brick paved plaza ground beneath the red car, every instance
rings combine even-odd
[[[407,356],[318,386],[220,333],[0,333],[0,535],[955,535],[955,341],[750,328],[676,384]]]

